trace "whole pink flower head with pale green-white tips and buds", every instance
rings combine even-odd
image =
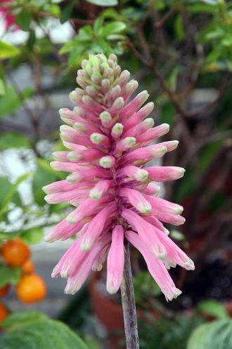
[[[190,258],[168,237],[161,222],[179,226],[185,219],[183,207],[156,195],[153,183],[181,178],[184,169],[154,166],[142,169],[154,157],[174,150],[178,142],[149,145],[169,131],[169,125],[153,127],[147,116],[153,103],[143,104],[148,92],[131,99],[138,87],[122,71],[117,57],[90,55],[77,72],[81,88],[70,93],[77,106],[60,109],[67,125],[60,137],[67,152],[55,152],[51,167],[72,172],[66,180],[46,185],[50,204],[70,202],[73,211],[55,226],[46,240],[77,239],[53,270],[53,277],[67,278],[65,293],[81,288],[91,269],[101,270],[107,256],[107,290],[116,293],[124,269],[124,242],[143,255],[148,270],[167,300],[181,294],[167,269],[194,269]]]

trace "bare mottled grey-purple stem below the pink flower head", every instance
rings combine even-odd
[[[139,349],[136,305],[132,281],[129,243],[126,246],[124,273],[121,283],[122,309],[127,349]]]

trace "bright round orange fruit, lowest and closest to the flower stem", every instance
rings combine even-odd
[[[15,290],[18,299],[24,303],[39,302],[46,295],[46,283],[37,274],[23,275]]]

